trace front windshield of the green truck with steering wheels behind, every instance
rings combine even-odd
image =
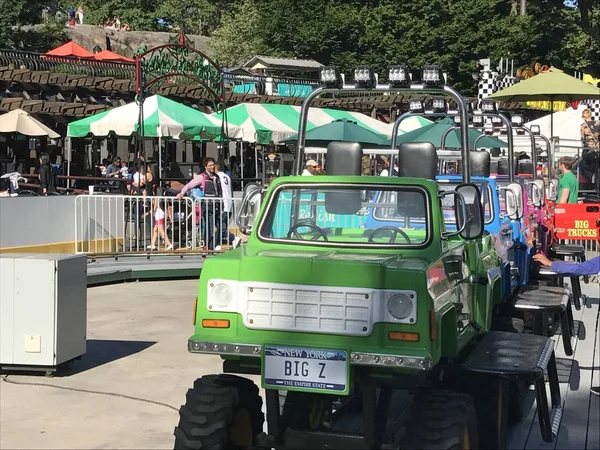
[[[314,245],[424,246],[429,196],[418,186],[281,186],[259,227],[261,240]]]

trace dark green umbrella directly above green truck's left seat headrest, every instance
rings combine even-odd
[[[296,142],[295,134],[283,142]],[[387,136],[361,127],[349,119],[337,119],[331,123],[314,127],[306,133],[306,143],[310,146],[325,147],[331,141],[360,142],[367,145],[385,145]]]

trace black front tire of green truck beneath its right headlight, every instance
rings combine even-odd
[[[417,394],[409,417],[401,449],[479,448],[475,406],[469,395],[444,391]]]

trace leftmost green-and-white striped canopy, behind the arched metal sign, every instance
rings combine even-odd
[[[139,106],[132,102],[71,122],[67,135],[85,137],[114,133],[117,136],[131,136],[138,130],[138,116]],[[235,127],[232,129],[234,132],[237,130]],[[180,139],[204,134],[218,136],[220,133],[221,119],[218,117],[160,95],[153,95],[144,101],[144,136]]]

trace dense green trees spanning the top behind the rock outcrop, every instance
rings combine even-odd
[[[230,66],[256,54],[313,58],[348,74],[357,64],[385,74],[392,63],[438,63],[472,94],[475,64],[487,57],[599,76],[600,3],[577,3],[529,0],[520,16],[517,0],[0,0],[0,47],[52,46],[62,39],[61,24],[15,26],[39,23],[44,7],[54,17],[81,4],[88,24],[118,15],[132,30],[211,36],[218,59]]]

